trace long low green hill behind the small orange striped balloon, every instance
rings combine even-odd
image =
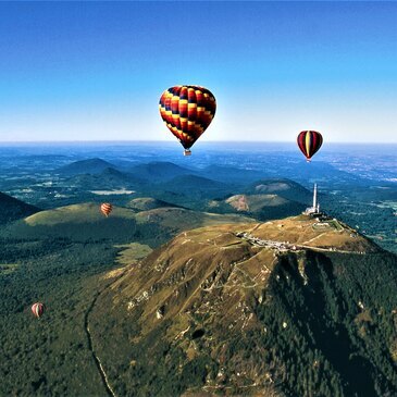
[[[87,202],[41,211],[9,225],[3,235],[13,238],[65,238],[72,241],[140,243],[158,246],[175,234],[203,225],[250,222],[240,215],[221,215],[183,208],[157,208],[136,213],[113,207],[106,218],[99,203]]]

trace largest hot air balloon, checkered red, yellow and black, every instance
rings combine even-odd
[[[199,86],[175,86],[160,98],[160,115],[190,156],[190,148],[211,124],[216,101],[212,92]]]

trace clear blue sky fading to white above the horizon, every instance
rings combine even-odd
[[[0,141],[173,140],[178,84],[203,140],[397,142],[397,3],[0,2]]]

